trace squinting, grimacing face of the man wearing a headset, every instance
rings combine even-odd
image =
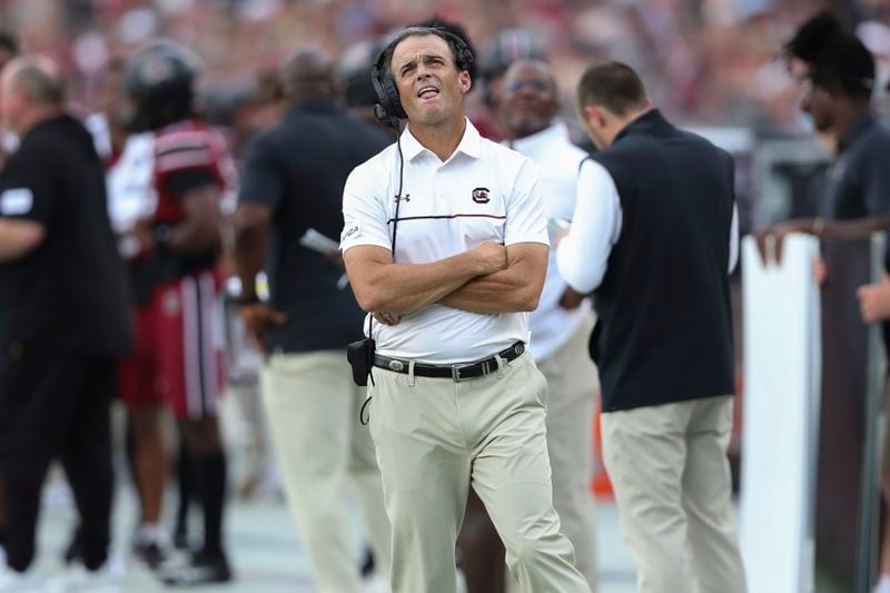
[[[469,90],[469,73],[457,69],[445,39],[424,34],[402,40],[393,51],[390,70],[412,123],[432,126],[463,117],[462,99]]]

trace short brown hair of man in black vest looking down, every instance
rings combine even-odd
[[[584,70],[577,83],[578,108],[592,105],[623,117],[645,107],[646,89],[640,76],[626,63],[597,63]]]

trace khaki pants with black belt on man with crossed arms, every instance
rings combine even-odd
[[[553,510],[547,385],[527,354],[465,382],[374,369],[370,434],[393,523],[394,593],[454,593],[472,485],[525,591],[589,592]]]

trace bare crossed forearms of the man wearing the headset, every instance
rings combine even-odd
[[[548,247],[486,241],[429,264],[395,264],[386,248],[360,245],[344,254],[346,274],[366,312],[407,315],[433,303],[471,313],[537,308]]]

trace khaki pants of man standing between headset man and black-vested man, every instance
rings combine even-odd
[[[538,365],[550,385],[547,451],[553,468],[553,506],[575,548],[575,566],[596,591],[596,521],[593,478],[593,406],[600,380],[587,353],[593,317]]]

